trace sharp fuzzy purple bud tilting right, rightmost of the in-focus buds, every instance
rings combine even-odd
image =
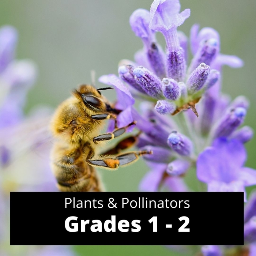
[[[204,63],[201,63],[188,78],[188,90],[191,93],[199,91],[204,86],[209,74],[210,67]]]

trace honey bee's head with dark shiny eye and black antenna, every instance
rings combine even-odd
[[[92,85],[83,84],[79,87],[78,90],[74,90],[73,94],[80,101],[82,100],[83,104],[95,112],[104,112],[106,111],[107,100],[101,95],[101,90],[112,89],[110,87],[96,89]]]

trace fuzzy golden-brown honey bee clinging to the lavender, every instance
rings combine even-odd
[[[51,166],[60,191],[102,191],[94,167],[115,170],[135,162],[143,154],[152,154],[148,151],[120,153],[133,146],[138,135],[121,140],[101,155],[95,153],[102,141],[124,134],[129,126],[135,124],[132,122],[122,128],[115,125],[112,133],[99,135],[104,120],[116,120],[120,113],[101,95],[101,91],[107,89],[112,88],[96,89],[83,84],[59,105],[53,115],[51,131],[57,141],[52,148]]]

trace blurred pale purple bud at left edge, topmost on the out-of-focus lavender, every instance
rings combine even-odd
[[[14,27],[4,26],[0,29],[0,73],[14,59],[18,33]]]

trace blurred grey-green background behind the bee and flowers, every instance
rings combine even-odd
[[[256,1],[180,0],[191,17],[180,30],[189,35],[194,23],[221,35],[221,52],[241,57],[241,69],[223,68],[223,91],[251,101],[245,124],[256,128]],[[133,59],[142,42],[130,29],[137,8],[149,10],[151,0],[1,0],[0,25],[19,31],[18,59],[37,63],[39,77],[29,93],[26,112],[35,105],[56,106],[80,83],[116,73],[121,59]],[[158,35],[163,45],[163,38]],[[100,86],[99,83],[97,86]],[[105,93],[104,93],[105,94]],[[113,92],[106,93],[114,99]],[[256,169],[255,142],[246,144],[246,166]],[[142,160],[117,172],[99,171],[108,191],[137,191],[147,167]],[[86,239],[86,238],[85,238]],[[171,237],[170,237],[171,241]],[[78,255],[177,255],[162,246],[75,246]]]

